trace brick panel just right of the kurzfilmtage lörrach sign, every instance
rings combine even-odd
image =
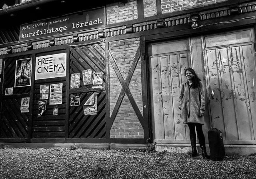
[[[136,0],[127,3],[116,2],[107,5],[107,24],[115,24],[138,18],[138,4]]]

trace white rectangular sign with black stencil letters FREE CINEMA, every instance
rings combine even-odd
[[[66,77],[67,53],[36,57],[35,80]]]

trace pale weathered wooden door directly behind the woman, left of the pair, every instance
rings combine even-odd
[[[185,142],[188,129],[182,123],[178,99],[184,70],[190,67],[188,40],[152,44],[150,53],[154,141]]]

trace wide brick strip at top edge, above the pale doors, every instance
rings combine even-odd
[[[174,11],[198,8],[227,0],[161,0],[162,14]]]

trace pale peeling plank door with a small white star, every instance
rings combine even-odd
[[[255,54],[253,43],[205,49],[212,126],[224,140],[255,140]]]

